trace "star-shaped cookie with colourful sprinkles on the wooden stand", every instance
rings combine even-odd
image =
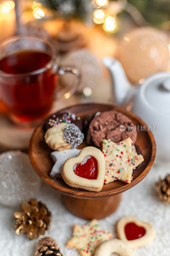
[[[106,160],[106,173],[104,183],[114,180],[122,180],[130,183],[133,169],[144,161],[142,155],[132,152],[132,140],[130,138],[114,143],[111,140],[103,140],[102,152]]]

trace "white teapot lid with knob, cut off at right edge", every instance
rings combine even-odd
[[[144,95],[148,104],[162,114],[170,115],[170,73],[161,72],[144,82]]]

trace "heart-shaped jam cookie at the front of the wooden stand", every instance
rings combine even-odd
[[[105,157],[100,149],[86,147],[77,157],[65,161],[61,175],[70,187],[100,191],[104,183],[105,164]],[[83,167],[85,174],[83,174]]]

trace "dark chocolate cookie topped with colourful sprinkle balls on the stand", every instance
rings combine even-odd
[[[54,125],[57,124],[76,124],[78,128],[82,131],[83,130],[83,122],[82,119],[77,116],[75,113],[71,113],[70,111],[65,113],[55,113],[48,117],[44,124],[45,132]]]

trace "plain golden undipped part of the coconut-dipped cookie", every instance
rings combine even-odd
[[[71,148],[70,144],[64,140],[63,128],[68,124],[58,124],[47,130],[44,139],[50,148],[55,150],[64,150],[66,148]]]

